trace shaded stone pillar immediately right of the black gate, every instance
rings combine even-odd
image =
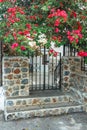
[[[80,57],[63,57],[62,58],[62,88],[69,91],[70,87],[75,85],[76,73],[81,72]]]

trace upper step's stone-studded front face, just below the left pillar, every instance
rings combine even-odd
[[[56,105],[60,103],[73,102],[69,95],[32,97],[32,98],[15,98],[5,100],[5,110],[28,110],[33,108],[45,107],[45,105]]]

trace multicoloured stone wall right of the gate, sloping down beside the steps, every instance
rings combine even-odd
[[[81,71],[80,57],[62,58],[62,89],[72,93],[76,101],[87,104],[87,75]]]

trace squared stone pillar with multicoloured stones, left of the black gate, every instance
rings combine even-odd
[[[28,58],[3,57],[3,89],[6,98],[29,96]]]

